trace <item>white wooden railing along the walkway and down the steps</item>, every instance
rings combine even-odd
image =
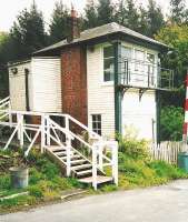
[[[0,121],[1,125],[7,125],[13,128],[13,132],[10,135],[4,150],[7,150],[13,140],[14,137],[20,141],[20,147],[24,147],[24,155],[27,157],[30,150],[33,148],[36,141],[40,138],[40,147],[41,152],[43,152],[47,147],[49,147],[52,142],[58,144],[60,148],[66,148],[67,150],[67,175],[70,176],[71,172],[71,153],[70,149],[75,150],[77,153],[82,155],[92,164],[92,186],[97,189],[97,175],[98,170],[103,171],[103,168],[111,167],[111,174],[116,184],[118,184],[118,142],[116,141],[105,141],[100,135],[90,130],[88,127],[70,117],[69,114],[61,113],[41,113],[41,112],[24,112],[24,111],[11,111],[7,109],[4,111],[7,115],[12,120],[14,117],[14,121],[12,122],[3,122]],[[39,117],[40,123],[32,124],[28,121],[27,117]],[[61,118],[65,122],[65,125],[60,125],[52,117]],[[83,129],[89,138],[95,139],[93,143],[90,143],[88,140],[85,140],[76,132],[71,131],[70,122],[79,125]],[[60,137],[60,133],[63,134],[66,140],[63,141]],[[26,142],[27,141],[27,148]],[[85,157],[83,153],[79,150],[78,147],[73,145],[72,141],[79,141],[79,144],[83,144],[83,148],[89,151],[90,157]],[[28,144],[29,143],[29,144]],[[106,155],[106,148],[110,152],[111,158]]]

